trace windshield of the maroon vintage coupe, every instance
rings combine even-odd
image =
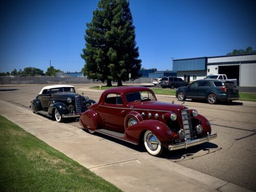
[[[150,91],[127,93],[125,98],[127,102],[156,100],[155,96]]]

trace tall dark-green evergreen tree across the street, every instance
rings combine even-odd
[[[81,57],[86,61],[83,72],[94,80],[122,81],[139,77],[141,60],[135,41],[135,27],[126,0],[101,0],[93,12],[84,39],[86,48]]]

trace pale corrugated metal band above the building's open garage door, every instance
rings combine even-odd
[[[241,56],[228,56],[228,57],[207,58],[207,62],[208,63],[249,61],[249,60],[256,60],[256,54],[255,55],[241,55]]]

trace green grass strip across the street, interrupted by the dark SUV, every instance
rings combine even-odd
[[[117,86],[113,86],[113,87],[106,87],[106,86],[102,86],[101,90],[107,90],[110,88],[116,88]],[[90,89],[97,89],[99,90],[99,86],[97,87],[91,87]],[[154,91],[155,94],[161,94],[161,95],[175,95],[176,94],[176,89],[158,89],[158,88],[150,88]],[[239,100],[243,100],[243,101],[256,101],[256,93],[245,93],[245,92],[239,92],[240,95],[240,99]]]

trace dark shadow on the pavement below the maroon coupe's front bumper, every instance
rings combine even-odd
[[[186,161],[189,159],[199,158],[211,153],[215,153],[222,150],[221,147],[214,143],[205,142],[199,145],[183,148],[181,150],[170,151],[165,153],[162,158],[172,160],[174,162]]]

